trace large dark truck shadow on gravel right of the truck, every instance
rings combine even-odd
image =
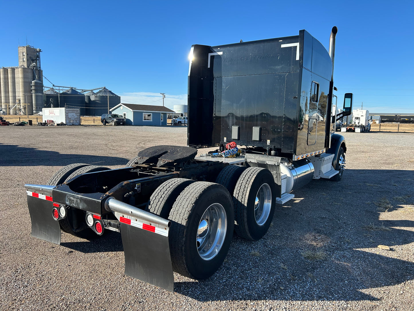
[[[381,291],[397,295],[402,289],[386,287],[414,279],[413,188],[409,170],[346,170],[338,183],[315,180],[277,207],[262,240],[233,237],[216,274],[176,282],[175,291],[198,301],[251,300],[250,307],[255,300],[375,304]],[[383,198],[392,206],[387,212],[377,205]],[[308,260],[305,250],[326,258]]]

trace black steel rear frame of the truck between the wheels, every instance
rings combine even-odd
[[[113,197],[121,202],[144,209],[151,194],[171,178],[187,178],[214,182],[227,165],[218,161],[189,161],[182,167],[156,167],[140,164],[129,168],[105,170],[79,175],[52,190],[53,202],[114,219],[105,209]],[[105,222],[105,221],[104,221]],[[108,225],[108,224],[106,224]],[[109,225],[113,225],[110,222]]]

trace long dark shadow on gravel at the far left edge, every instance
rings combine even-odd
[[[0,166],[65,166],[72,163],[88,163],[92,165],[121,165],[128,159],[84,154],[68,154],[56,151],[40,150],[32,147],[8,145],[0,143]]]

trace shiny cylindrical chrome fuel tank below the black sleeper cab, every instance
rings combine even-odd
[[[286,175],[286,193],[306,185],[313,179],[313,164],[308,159],[294,162],[282,160],[280,162],[280,173]]]

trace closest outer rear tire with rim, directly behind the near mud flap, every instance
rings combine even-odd
[[[173,270],[206,279],[224,262],[234,227],[229,192],[213,182],[194,182],[173,204],[169,244]]]

